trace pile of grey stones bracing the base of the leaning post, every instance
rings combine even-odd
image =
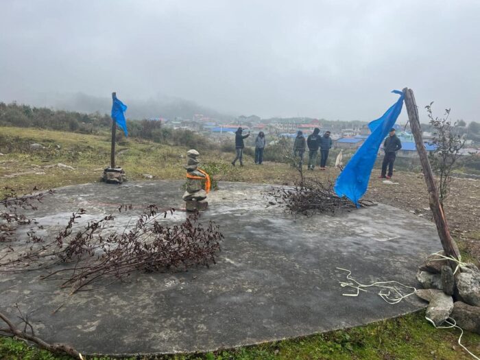
[[[467,331],[480,334],[480,270],[472,263],[454,274],[444,252],[431,254],[419,267],[417,280],[424,289],[416,295],[427,300],[427,317],[440,326],[448,317]]]

